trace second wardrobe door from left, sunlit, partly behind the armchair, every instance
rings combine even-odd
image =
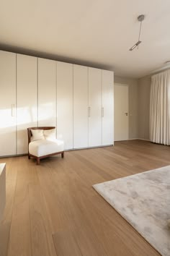
[[[37,58],[17,54],[17,154],[27,153],[27,127],[37,127]]]

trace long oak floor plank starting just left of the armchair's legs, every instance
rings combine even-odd
[[[8,256],[32,256],[27,177],[25,158],[19,157]]]

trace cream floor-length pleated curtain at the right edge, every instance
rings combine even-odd
[[[150,140],[170,145],[170,69],[151,77]]]

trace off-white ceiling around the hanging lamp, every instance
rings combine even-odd
[[[145,14],[139,49],[139,14]],[[0,0],[0,46],[143,77],[170,60],[169,0]]]

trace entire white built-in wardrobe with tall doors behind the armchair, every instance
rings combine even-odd
[[[27,127],[65,149],[113,145],[113,72],[0,51],[0,156],[27,153]]]

